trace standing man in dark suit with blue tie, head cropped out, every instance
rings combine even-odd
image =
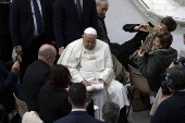
[[[10,29],[15,51],[23,57],[21,72],[37,60],[37,51],[53,40],[50,0],[13,0]]]

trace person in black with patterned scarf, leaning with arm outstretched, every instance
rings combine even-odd
[[[148,24],[126,24],[123,26],[123,29],[125,32],[130,33],[137,33],[131,40],[125,41],[121,45],[119,48],[119,53],[116,54],[119,61],[123,64],[123,66],[128,70],[128,64],[131,64],[134,67],[137,67],[137,65],[130,60],[130,57],[139,49],[141,46],[141,40],[144,41],[145,48],[151,48],[152,47],[152,40],[155,37],[155,32],[162,32],[162,30],[169,30],[173,32],[176,29],[176,22],[170,17],[166,16],[162,19],[161,23],[158,24],[153,29],[153,33],[149,33],[147,29],[148,27],[153,27],[151,23]]]

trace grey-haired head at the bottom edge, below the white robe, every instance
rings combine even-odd
[[[106,123],[115,123],[119,119],[120,107],[114,102],[106,102],[102,107],[102,119]]]

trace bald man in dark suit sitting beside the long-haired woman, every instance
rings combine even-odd
[[[38,60],[33,62],[23,77],[23,88],[20,99],[25,101],[29,111],[38,112],[38,94],[42,85],[49,79],[50,66],[55,60],[55,48],[42,45],[38,51]]]

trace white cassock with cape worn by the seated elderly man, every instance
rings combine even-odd
[[[107,88],[103,91],[108,94],[106,100],[115,102],[120,106],[120,109],[128,106],[124,86],[114,79],[111,52],[106,42],[97,39],[95,49],[87,50],[83,46],[82,38],[75,40],[62,52],[58,64],[63,64],[70,70],[73,83],[81,83],[85,79],[90,82],[91,85],[96,85],[99,83],[99,78],[103,79]],[[92,99],[96,98],[95,104],[100,108],[100,113],[104,103],[102,96],[102,91],[96,91],[92,96]],[[96,100],[99,102],[96,102]]]

